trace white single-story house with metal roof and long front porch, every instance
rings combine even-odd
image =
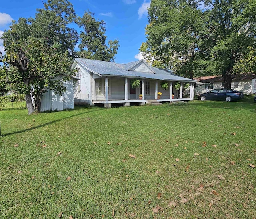
[[[183,78],[167,70],[152,68],[144,60],[118,64],[98,60],[75,58],[72,68],[78,68],[77,78],[80,79],[74,86],[75,104],[87,102],[88,104],[121,103],[129,106],[130,103],[140,105],[148,102],[170,102],[193,100],[195,80]],[[140,80],[140,86],[132,88],[131,82]],[[168,89],[161,87],[161,82],[168,83]],[[174,83],[190,83],[189,98],[183,98],[182,92],[174,89]],[[158,99],[157,92],[162,96]],[[139,95],[142,94],[142,100]],[[174,99],[172,99],[174,94]]]

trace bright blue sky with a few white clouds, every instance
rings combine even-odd
[[[78,16],[90,10],[96,20],[106,22],[107,40],[119,40],[116,63],[142,59],[139,48],[146,41],[147,8],[150,0],[69,0]],[[47,0],[43,0],[47,2]],[[4,0],[0,6],[0,37],[12,20],[34,17],[36,8],[44,8],[42,0]],[[78,29],[77,26],[75,26]],[[3,52],[0,39],[0,51]]]

